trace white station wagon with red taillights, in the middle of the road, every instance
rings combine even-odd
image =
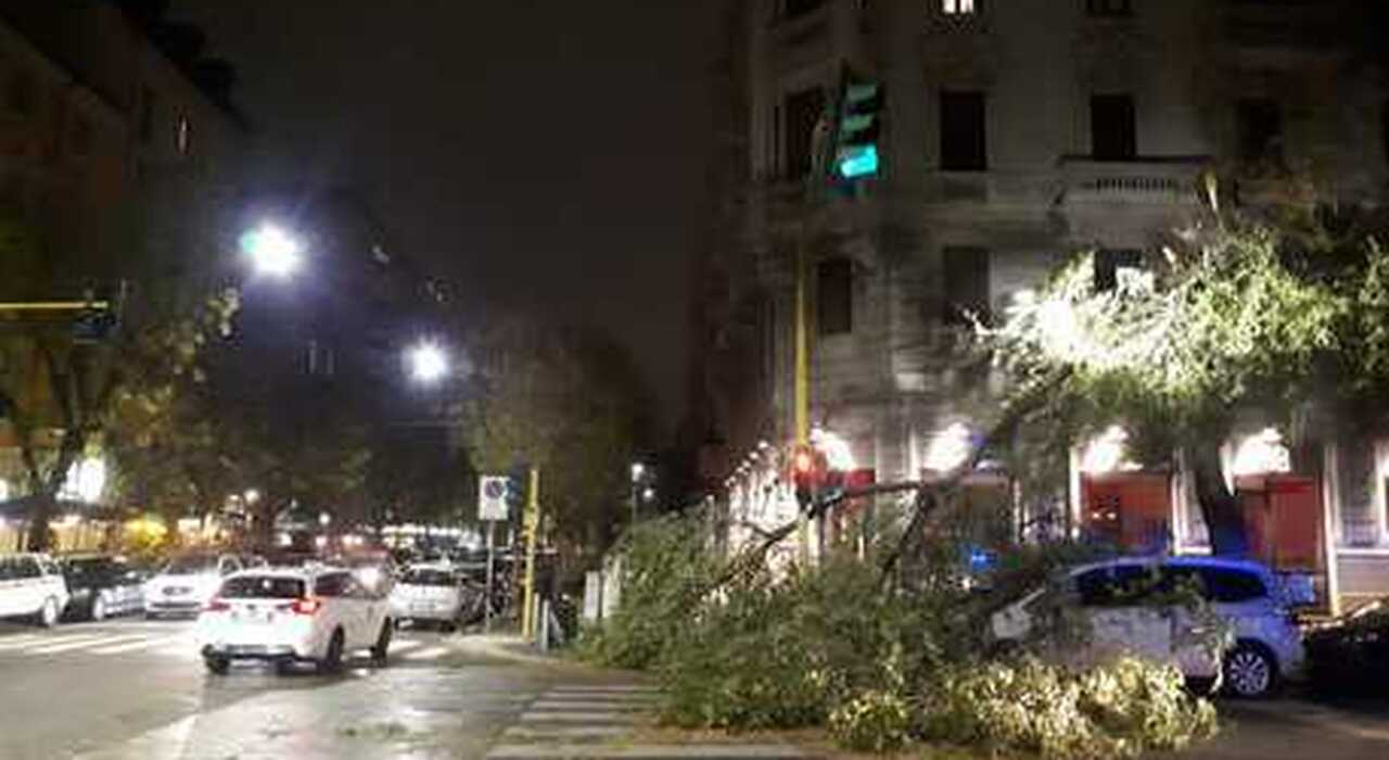
[[[299,661],[335,671],[358,649],[385,664],[392,628],[386,597],[349,570],[249,570],[222,581],[199,616],[197,639],[217,675],[233,660],[271,661],[281,672]]]

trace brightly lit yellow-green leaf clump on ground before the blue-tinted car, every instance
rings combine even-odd
[[[1083,671],[1039,660],[950,668],[926,689],[931,741],[1047,759],[1135,757],[1214,735],[1215,711],[1175,668],[1121,659]]]

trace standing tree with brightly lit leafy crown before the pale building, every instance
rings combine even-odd
[[[1206,182],[1199,220],[1097,283],[1095,256],[1060,267],[978,329],[1008,379],[1022,471],[1063,470],[1085,436],[1120,424],[1129,456],[1189,468],[1211,546],[1247,549],[1221,445],[1242,414],[1301,435],[1310,420],[1381,424],[1389,390],[1389,256],[1376,220],[1304,203],[1221,208]],[[1025,403],[1017,402],[1026,399]]]

